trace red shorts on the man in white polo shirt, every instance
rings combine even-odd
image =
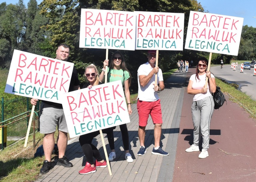
[[[138,99],[137,110],[139,114],[139,126],[147,126],[149,115],[151,116],[154,124],[163,123],[160,99],[153,102]]]

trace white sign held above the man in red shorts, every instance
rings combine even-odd
[[[183,50],[184,13],[135,13],[136,49]]]

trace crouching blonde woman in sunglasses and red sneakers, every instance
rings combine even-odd
[[[87,80],[89,81],[89,84],[84,85],[83,88],[92,88],[95,85],[102,84],[101,82],[99,82],[99,74],[98,74],[97,68],[93,64],[91,64],[85,68],[84,75],[86,76]],[[114,140],[114,135],[113,135],[114,129],[115,129],[115,127],[103,129],[102,133],[107,133],[108,139]],[[81,135],[79,137],[80,145],[81,145],[84,155],[87,159],[84,169],[79,171],[79,174],[81,174],[81,175],[86,175],[86,174],[96,172],[97,167],[107,167],[107,163],[105,160],[103,160],[103,158],[99,154],[99,150],[96,148],[96,146],[94,146],[92,144],[93,138],[98,135],[99,135],[99,131],[95,131],[92,133],[87,133],[87,134]],[[110,147],[114,148],[114,144],[113,144],[113,146],[110,146]],[[93,162],[93,157],[96,159],[95,163]]]

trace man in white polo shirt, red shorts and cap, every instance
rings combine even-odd
[[[160,99],[157,92],[164,89],[163,73],[159,67],[156,67],[156,50],[148,51],[148,62],[140,65],[138,69],[138,102],[137,109],[139,114],[139,142],[140,149],[137,153],[138,156],[143,156],[145,150],[145,128],[148,123],[148,116],[151,115],[154,127],[155,144],[152,154],[156,155],[169,155],[160,148],[160,138],[162,130],[162,111]],[[155,74],[157,74],[157,84],[155,85]],[[159,86],[158,86],[159,84]]]

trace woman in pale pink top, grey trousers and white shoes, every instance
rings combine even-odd
[[[204,57],[197,61],[196,74],[189,79],[187,93],[194,94],[191,106],[192,120],[194,125],[194,141],[186,152],[199,151],[199,141],[203,138],[202,152],[198,158],[206,158],[209,156],[208,148],[210,141],[210,121],[214,111],[214,101],[212,93],[216,91],[215,77],[207,70],[208,60]],[[206,76],[208,77],[207,88],[205,88]]]

